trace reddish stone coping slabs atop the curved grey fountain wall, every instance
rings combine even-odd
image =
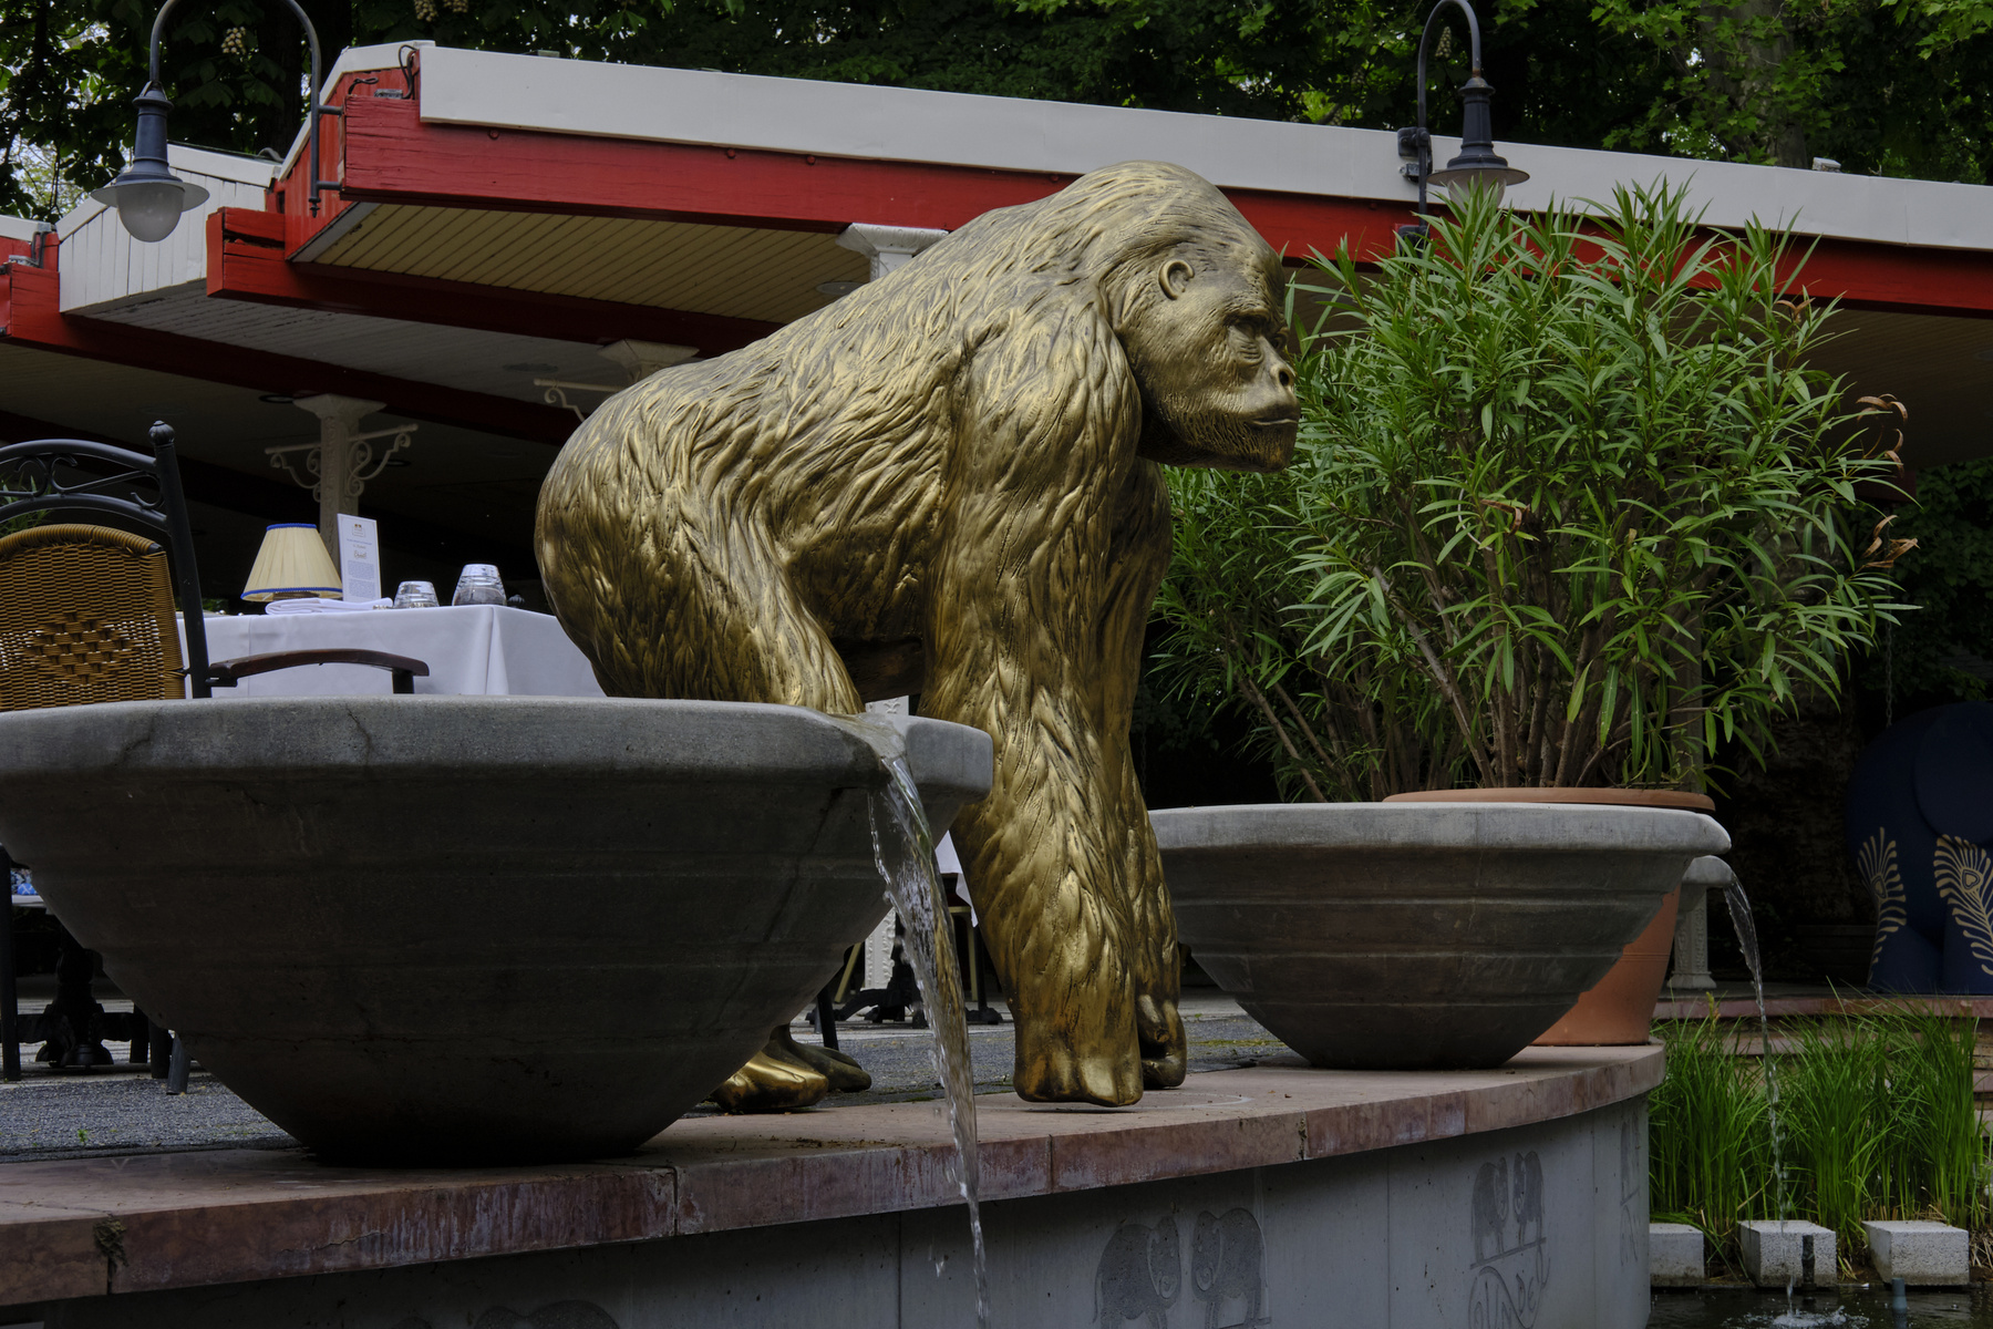
[[[1010,1199],[1381,1150],[1624,1102],[1662,1052],[1531,1048],[1483,1072],[1276,1058],[1132,1108],[977,1100],[983,1197]],[[387,1269],[959,1203],[935,1102],[674,1124],[624,1160],[333,1168],[303,1150],[0,1166],[0,1305]],[[1832,1265],[1830,1265],[1832,1267]]]

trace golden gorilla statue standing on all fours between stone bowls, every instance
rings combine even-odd
[[[1287,464],[1281,293],[1218,189],[1126,161],[626,389],[540,490],[548,600],[610,695],[919,693],[995,739],[955,843],[1030,1100],[1184,1078],[1176,921],[1128,753],[1170,562],[1158,462]]]

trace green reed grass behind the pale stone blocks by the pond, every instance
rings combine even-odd
[[[1778,1158],[1758,1056],[1738,1056],[1714,1018],[1662,1024],[1668,1076],[1648,1100],[1650,1207],[1694,1223],[1736,1257],[1736,1225],[1806,1217],[1842,1251],[1865,1247],[1863,1219],[1941,1217],[1993,1225],[1989,1138],[1973,1104],[1977,1020],[1883,1012],[1782,1030]]]

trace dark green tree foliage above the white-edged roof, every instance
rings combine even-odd
[[[1413,106],[1425,0],[301,0],[327,60],[434,40],[1387,130]],[[52,217],[110,179],[153,0],[0,0],[0,211]],[[1987,0],[1495,0],[1485,68],[1507,141],[1983,181]],[[1433,52],[1457,124],[1465,34]],[[187,0],[163,74],[175,141],[283,151],[303,38],[277,0]]]

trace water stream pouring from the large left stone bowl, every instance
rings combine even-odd
[[[983,1257],[983,1209],[977,1172],[977,1082],[969,1066],[969,1020],[963,1014],[963,974],[955,954],[949,899],[935,877],[935,837],[921,809],[921,791],[907,769],[905,743],[885,725],[867,725],[865,737],[887,771],[885,789],[871,795],[873,861],[885,879],[885,895],[907,925],[907,960],[921,984],[927,1026],[935,1032],[935,1072],[949,1102],[955,1132],[953,1180],[969,1201],[969,1237],[975,1257],[977,1325],[989,1329],[991,1287]],[[891,741],[881,741],[883,735]]]

